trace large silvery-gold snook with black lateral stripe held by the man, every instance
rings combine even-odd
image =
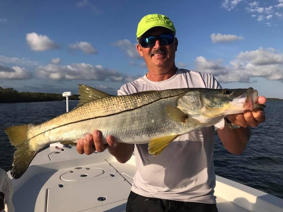
[[[262,109],[257,90],[180,88],[109,95],[79,85],[80,101],[69,112],[40,124],[12,125],[5,129],[15,153],[11,175],[20,178],[35,155],[47,145],[75,145],[93,130],[100,130],[103,143],[112,135],[117,142],[148,143],[157,156],[172,140],[185,133],[210,127],[229,114]]]

